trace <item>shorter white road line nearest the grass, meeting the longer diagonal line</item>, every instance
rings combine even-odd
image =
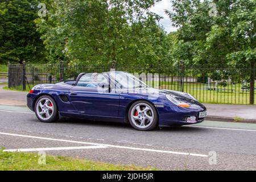
[[[48,147],[48,148],[18,148],[3,150],[3,152],[35,152],[35,151],[52,151],[52,150],[81,150],[94,148],[108,148],[106,146],[82,146],[82,147]]]

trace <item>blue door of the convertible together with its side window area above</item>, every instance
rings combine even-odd
[[[98,77],[100,77],[100,81],[108,82],[108,79],[103,75]],[[99,92],[98,87],[92,86],[100,82],[99,80],[93,80],[91,73],[83,76],[77,86],[69,90],[69,97],[71,98],[73,106],[75,106],[82,115],[118,117],[119,94],[109,92],[109,90]]]

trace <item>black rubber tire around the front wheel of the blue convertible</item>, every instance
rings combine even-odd
[[[131,119],[131,112],[133,111],[133,108],[138,104],[146,104],[146,105],[150,106],[152,109],[152,112],[154,113],[154,118],[152,119],[152,123],[143,129],[140,127],[137,127]],[[128,119],[129,119],[131,126],[133,126],[134,129],[139,130],[139,131],[151,131],[151,130],[154,130],[156,128],[156,126],[158,125],[158,112],[156,111],[155,106],[150,104],[150,102],[137,101],[137,102],[134,102],[134,104],[130,106],[130,109],[128,111]]]

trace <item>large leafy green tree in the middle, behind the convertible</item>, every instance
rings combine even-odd
[[[148,11],[158,1],[50,0],[38,30],[52,60],[112,68],[154,65],[167,60],[169,49],[156,24],[160,17]]]

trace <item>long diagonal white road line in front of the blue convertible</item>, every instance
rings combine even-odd
[[[44,137],[35,137],[30,135],[19,135],[19,134],[11,134],[11,133],[0,133],[1,135],[10,135],[14,137],[26,137],[26,138],[35,138],[35,139],[44,139],[44,140],[54,140],[59,142],[69,142],[69,143],[80,143],[80,144],[89,144],[93,146],[105,146],[105,147],[114,147],[114,148],[125,148],[128,150],[139,150],[139,151],[149,151],[149,152],[159,152],[159,153],[167,153],[167,154],[177,154],[177,155],[191,155],[191,156],[200,156],[207,158],[208,155],[203,154],[193,154],[188,152],[175,152],[175,151],[164,151],[164,150],[154,150],[149,148],[137,148],[137,147],[125,147],[125,146],[115,146],[112,144],[102,144],[102,143],[90,143],[90,142],[79,142],[75,140],[64,140],[64,139],[55,139],[55,138],[44,138]]]

